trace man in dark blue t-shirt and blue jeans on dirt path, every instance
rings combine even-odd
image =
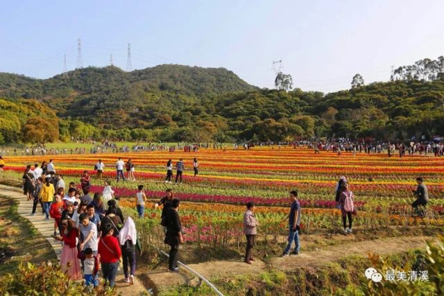
[[[289,220],[289,237],[287,241],[289,242],[287,247],[285,248],[284,252],[282,253],[281,257],[289,256],[289,252],[291,249],[291,245],[293,245],[293,241],[295,243],[295,248],[292,255],[298,255],[300,251],[300,243],[299,243],[299,230],[300,230],[300,204],[298,201],[298,191],[293,190],[290,191],[290,200],[291,206],[290,206],[290,212],[289,214],[284,218],[285,220]]]

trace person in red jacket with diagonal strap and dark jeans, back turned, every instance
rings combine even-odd
[[[103,278],[105,279],[105,284],[109,283],[110,287],[115,285],[119,259],[122,256],[119,240],[112,236],[112,234],[114,234],[114,226],[108,223],[105,224],[103,226],[102,238],[99,241]]]

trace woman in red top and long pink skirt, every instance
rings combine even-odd
[[[66,216],[62,218],[60,225],[62,225],[62,236],[54,236],[56,240],[64,242],[62,254],[60,255],[60,266],[62,266],[62,270],[67,272],[71,279],[82,279],[80,260],[77,257],[78,230],[74,226],[73,220]]]

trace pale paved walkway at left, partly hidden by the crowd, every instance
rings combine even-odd
[[[19,202],[17,212],[20,216],[28,219],[33,223],[34,227],[42,234],[44,238],[51,244],[56,252],[57,258],[60,259],[60,252],[62,252],[62,244],[60,241],[56,241],[51,235],[54,232],[54,220],[44,220],[44,215],[42,215],[42,207],[40,204],[37,206],[37,211],[35,216],[31,216],[31,210],[33,209],[33,201],[27,200],[26,195],[23,194],[22,189],[17,187],[6,186],[0,184],[0,195],[6,195],[10,198],[14,198]],[[32,247],[32,246],[30,246]],[[146,288],[140,283],[136,278],[134,279],[134,285],[123,282],[123,270],[120,270],[116,278],[117,293],[122,293],[122,295],[141,295],[146,294]]]

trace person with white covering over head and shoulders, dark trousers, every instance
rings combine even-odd
[[[139,238],[137,236],[136,225],[131,217],[126,219],[125,225],[119,232],[119,243],[122,250],[123,274],[126,283],[134,284],[134,276],[136,272],[136,249],[142,254]],[[130,270],[128,272],[128,263]]]

